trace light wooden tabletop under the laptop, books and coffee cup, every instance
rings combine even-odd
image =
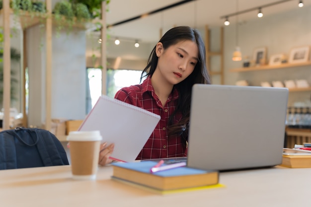
[[[157,195],[110,179],[99,167],[97,180],[71,178],[71,167],[0,171],[1,207],[294,207],[309,206],[311,168],[274,167],[220,174],[225,188]]]

